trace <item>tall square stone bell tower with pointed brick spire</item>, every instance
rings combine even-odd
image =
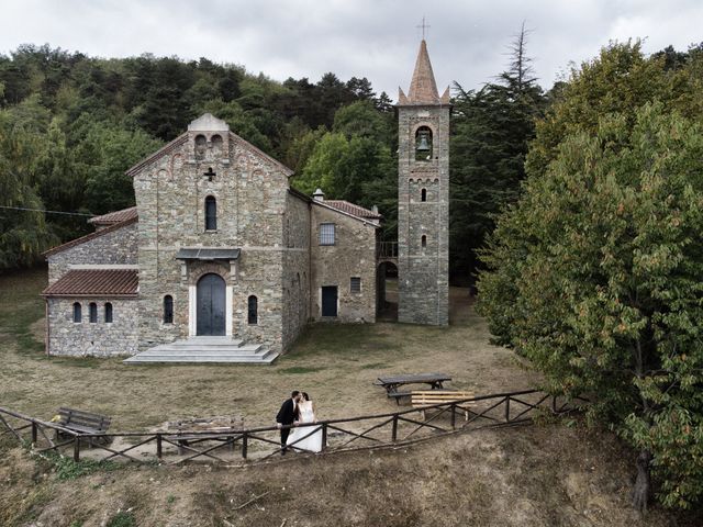
[[[408,96],[398,96],[399,322],[449,323],[450,111],[423,38]]]

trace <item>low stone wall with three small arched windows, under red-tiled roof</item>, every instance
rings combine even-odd
[[[137,351],[136,299],[65,299],[48,302],[48,354],[112,357]],[[81,322],[74,322],[74,302],[81,304]],[[89,305],[98,306],[98,322],[90,322]],[[105,302],[112,303],[112,323],[104,322]]]

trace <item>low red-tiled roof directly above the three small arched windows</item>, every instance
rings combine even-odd
[[[76,269],[46,288],[44,296],[136,296],[140,287],[136,269]]]

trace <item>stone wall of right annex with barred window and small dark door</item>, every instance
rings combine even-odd
[[[320,245],[320,224],[335,224],[335,245]],[[376,226],[313,202],[311,215],[311,318],[376,322]],[[352,277],[361,291],[350,291]],[[322,316],[322,287],[336,285],[337,317]]]

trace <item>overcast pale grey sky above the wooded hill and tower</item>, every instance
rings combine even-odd
[[[645,51],[703,41],[700,0],[0,0],[0,53],[48,43],[91,56],[208,57],[278,80],[326,71],[406,91],[423,15],[439,91],[478,88],[505,69],[523,20],[545,88],[611,40]]]

